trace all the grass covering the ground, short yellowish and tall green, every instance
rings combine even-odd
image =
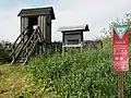
[[[26,66],[0,66],[0,98],[117,98],[111,42],[34,58]],[[131,60],[131,58],[130,58]],[[131,71],[126,74],[126,98],[131,97]]]

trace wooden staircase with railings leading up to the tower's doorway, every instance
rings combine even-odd
[[[32,36],[27,39],[27,28],[16,38],[14,44],[11,47],[11,57],[13,63],[26,64],[29,57],[36,52],[36,49],[39,47],[38,44],[44,41],[43,34],[39,26],[35,28]]]

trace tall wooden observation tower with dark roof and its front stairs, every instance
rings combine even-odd
[[[56,17],[52,7],[22,9],[17,16],[21,34],[11,47],[11,64],[25,64],[31,56],[44,51],[44,44],[51,44],[51,21]]]

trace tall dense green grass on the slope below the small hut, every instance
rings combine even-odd
[[[49,93],[56,98],[118,98],[118,77],[112,71],[109,38],[104,40],[103,49],[33,59],[27,70],[29,84],[26,93],[32,95],[31,98],[44,98]],[[126,98],[130,98],[130,71],[126,77]]]

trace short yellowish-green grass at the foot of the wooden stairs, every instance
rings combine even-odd
[[[55,93],[48,94],[49,89],[39,90],[37,85],[32,86],[33,88],[29,86],[28,89],[27,68],[27,65],[0,65],[0,98],[21,98],[24,91],[31,93],[33,89],[37,89],[35,90],[37,94],[27,98],[55,98]]]

